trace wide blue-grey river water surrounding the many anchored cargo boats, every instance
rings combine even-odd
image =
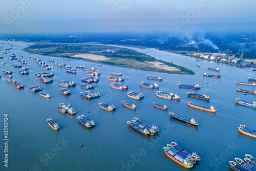
[[[0,41],[6,43],[7,41]],[[8,170],[187,170],[172,159],[168,158],[163,150],[166,144],[176,142],[190,152],[197,152],[201,161],[191,170],[231,170],[229,161],[234,158],[245,158],[245,154],[256,157],[255,139],[238,132],[238,126],[245,124],[256,129],[256,109],[236,104],[235,99],[253,102],[254,94],[238,92],[237,88],[254,91],[253,86],[236,84],[236,81],[248,82],[248,77],[256,79],[252,69],[240,69],[222,63],[196,61],[195,58],[167,53],[157,49],[138,49],[139,52],[154,56],[157,59],[173,61],[194,71],[195,75],[169,74],[152,71],[135,70],[129,68],[103,65],[91,65],[92,62],[83,60],[64,60],[63,58],[30,55],[23,48],[31,45],[27,42],[8,41],[12,44],[12,53],[18,59],[25,59],[29,68],[29,75],[18,74],[18,68],[12,65],[17,60],[9,60],[9,54],[3,54],[4,49],[11,45],[1,44],[5,65],[0,64],[2,70],[11,70],[12,77],[24,84],[24,89],[14,89],[6,82],[6,76],[1,73],[0,79],[0,127],[2,130],[1,168],[4,167],[4,157],[8,154]],[[128,48],[128,47],[127,47]],[[20,57],[23,56],[23,58]],[[44,84],[35,77],[37,72],[49,72],[38,67],[29,57],[36,57],[45,61],[54,73],[53,82]],[[86,71],[77,69],[77,74],[67,73],[65,69],[56,67],[49,59],[55,62],[66,63],[75,68],[75,65],[94,67],[99,71],[99,82],[95,83],[92,92],[100,92],[101,96],[94,99],[85,99],[80,92],[81,78]],[[197,66],[200,63],[200,67]],[[97,63],[96,63],[97,64]],[[220,73],[207,70],[220,68]],[[110,72],[121,72],[128,90],[111,89],[108,80]],[[203,73],[221,74],[221,78],[203,77]],[[146,76],[162,76],[163,81],[147,80]],[[63,88],[58,85],[59,80],[75,81],[76,87],[67,88],[71,95],[62,95]],[[139,82],[157,82],[159,90],[166,93],[176,93],[180,100],[167,100],[156,96],[157,89],[141,88]],[[179,83],[200,84],[198,94],[207,94],[210,101],[204,101],[187,96],[191,89],[178,87]],[[251,82],[250,82],[251,83]],[[50,99],[40,97],[39,92],[30,92],[28,86],[39,86],[42,91],[51,95]],[[128,91],[143,93],[140,100],[127,97]],[[136,104],[137,109],[131,110],[122,105],[121,100]],[[114,104],[116,110],[108,112],[99,108],[99,102]],[[216,113],[209,113],[190,108],[187,102],[207,106],[214,105]],[[59,103],[72,104],[75,115],[62,114],[57,110]],[[161,110],[153,105],[166,104],[168,110]],[[187,119],[195,118],[198,127],[186,125],[170,118],[169,112],[174,112]],[[8,114],[8,152],[4,152],[4,114]],[[96,122],[95,127],[87,129],[82,126],[77,117],[85,115]],[[156,124],[160,131],[156,136],[145,137],[127,126],[127,121],[134,117],[148,124]],[[47,123],[47,118],[53,119],[60,125],[54,131]],[[81,147],[83,144],[83,147]]]

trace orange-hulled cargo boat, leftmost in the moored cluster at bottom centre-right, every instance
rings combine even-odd
[[[169,149],[168,147],[163,147],[164,149],[164,153],[172,160],[174,160],[175,162],[179,163],[180,165],[182,165],[185,168],[191,168],[193,167],[193,163],[191,163],[189,161],[188,158],[186,159],[182,159],[178,154],[176,154],[172,149]],[[173,148],[175,149],[175,148]]]

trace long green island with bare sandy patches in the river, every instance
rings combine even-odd
[[[132,49],[119,47],[47,43],[34,44],[25,48],[24,51],[32,54],[83,59],[141,70],[178,74],[195,74],[193,71],[184,67],[176,66],[173,63],[157,60],[152,56],[148,56]]]

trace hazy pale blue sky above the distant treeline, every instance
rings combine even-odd
[[[254,0],[2,0],[0,33],[255,30],[255,7]]]

